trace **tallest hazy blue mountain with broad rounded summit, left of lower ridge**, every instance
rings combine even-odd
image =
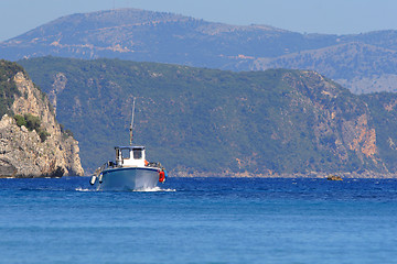
[[[229,63],[228,56],[275,57],[302,48],[323,47],[330,42],[334,43],[335,37],[302,35],[266,25],[227,25],[171,13],[121,9],[61,18],[1,43],[0,54],[10,59],[51,54],[222,68]],[[261,48],[264,46],[266,48]],[[234,59],[230,62],[236,63]]]

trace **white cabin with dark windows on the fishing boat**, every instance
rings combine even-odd
[[[116,165],[120,167],[144,167],[144,146],[115,146]]]

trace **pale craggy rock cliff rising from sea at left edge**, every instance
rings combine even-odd
[[[15,88],[0,121],[0,177],[83,175],[78,142],[62,131],[46,96],[14,64],[1,61],[0,73],[0,86]],[[32,117],[36,129],[15,117]]]

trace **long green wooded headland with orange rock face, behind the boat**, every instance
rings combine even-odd
[[[360,97],[313,72],[232,73],[118,59],[20,61],[56,95],[57,119],[93,172],[128,144],[148,160],[187,173],[387,172],[371,110]],[[60,78],[62,76],[62,78]],[[62,81],[60,81],[62,80]],[[382,135],[385,136],[385,135]],[[396,153],[396,150],[389,150]],[[390,169],[389,169],[390,170]]]

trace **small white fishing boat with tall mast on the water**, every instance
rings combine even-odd
[[[130,145],[115,146],[115,162],[107,162],[100,166],[90,178],[90,184],[97,183],[103,190],[148,190],[164,183],[167,172],[160,163],[149,163],[146,160],[144,146],[132,145],[132,127],[135,114],[132,103],[132,119],[130,124]]]

